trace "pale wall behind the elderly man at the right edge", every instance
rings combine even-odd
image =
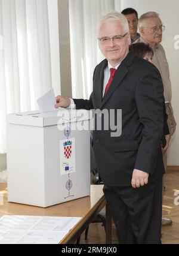
[[[137,10],[139,17],[147,11],[156,11],[160,14],[163,25],[166,26],[163,32],[162,45],[168,59],[171,82],[172,82],[172,106],[175,119],[179,127],[179,49],[174,48],[174,36],[179,34],[179,1],[178,0],[121,0],[121,10],[132,7]],[[179,47],[178,47],[179,48]],[[168,165],[179,165],[179,128],[172,137],[171,146],[168,150]]]

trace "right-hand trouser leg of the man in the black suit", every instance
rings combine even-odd
[[[161,243],[162,179],[134,189],[134,201],[128,204],[137,243]]]

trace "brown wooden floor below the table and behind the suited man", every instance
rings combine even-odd
[[[178,200],[176,200],[174,192],[178,191]],[[179,171],[169,171],[165,175],[165,193],[163,200],[163,216],[172,219],[172,225],[162,227],[162,243],[163,244],[179,244],[179,205],[174,204],[176,200],[179,204]],[[88,239],[84,239],[84,233],[81,236],[80,243],[104,244],[105,231],[100,223],[90,224],[88,231]],[[115,225],[113,225],[112,243],[118,243]]]

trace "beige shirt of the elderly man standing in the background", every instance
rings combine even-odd
[[[135,43],[146,43],[146,41],[140,37]],[[158,44],[157,47],[153,49],[153,53],[153,65],[160,71],[163,81],[165,103],[170,103],[172,98],[171,80],[169,79],[169,67],[162,44]]]

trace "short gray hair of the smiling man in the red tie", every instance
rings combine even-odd
[[[119,22],[122,25],[122,28],[124,30],[123,32],[129,32],[128,20],[122,13],[118,13],[118,11],[111,11],[110,13],[101,17],[101,19],[98,20],[97,23],[97,32],[99,31],[100,26],[105,22]]]

